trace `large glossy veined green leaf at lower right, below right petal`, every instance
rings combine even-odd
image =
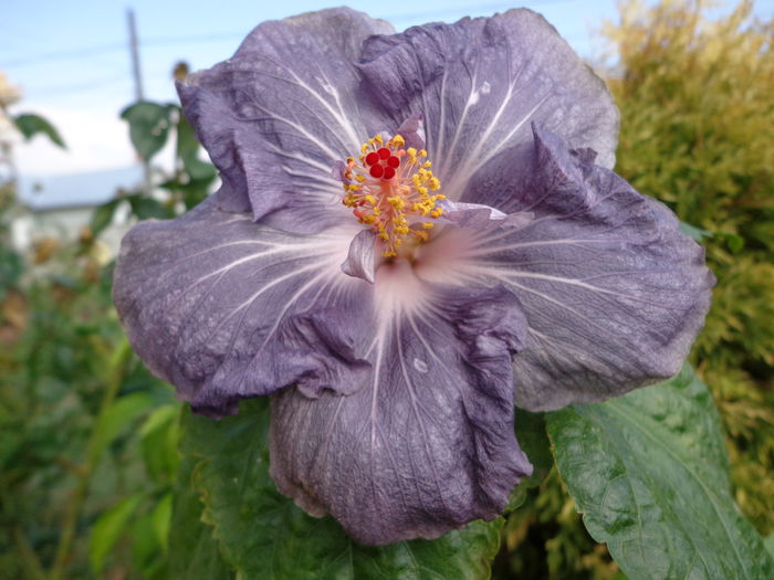
[[[690,367],[619,399],[551,413],[547,425],[586,528],[629,578],[774,578],[731,496],[718,413]]]

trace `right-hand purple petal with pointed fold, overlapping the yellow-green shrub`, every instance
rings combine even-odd
[[[502,283],[524,305],[529,348],[514,358],[516,404],[594,402],[679,371],[714,278],[674,215],[535,127],[529,182],[508,211],[524,228],[484,231],[462,275]],[[506,164],[503,164],[503,168]],[[503,169],[505,171],[505,169]]]

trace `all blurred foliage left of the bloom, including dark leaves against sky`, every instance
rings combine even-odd
[[[174,577],[180,403],[132,354],[100,234],[122,205],[140,220],[186,211],[216,171],[198,159],[177,105],[138,103],[122,116],[145,161],[176,138],[174,170],[149,167],[76,239],[14,250],[11,222],[23,209],[13,173],[0,179],[0,580]],[[25,138],[63,146],[42,117],[12,120]]]

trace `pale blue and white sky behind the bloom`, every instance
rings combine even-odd
[[[145,98],[176,101],[171,70],[179,60],[191,70],[228,59],[248,32],[264,20],[332,4],[302,0],[273,2],[218,0],[2,0],[0,71],[21,85],[24,98],[11,110],[35,112],[51,120],[66,151],[42,137],[17,148],[22,176],[57,176],[125,168],[135,162],[119,112],[134,101],[128,51],[127,8],[135,12]],[[543,13],[585,59],[604,45],[603,20],[617,20],[615,0],[533,0],[522,3],[460,0],[349,2],[390,21],[397,30],[464,15],[491,15],[517,6]],[[756,13],[770,15],[774,0],[760,0]]]

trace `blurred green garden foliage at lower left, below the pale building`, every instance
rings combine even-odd
[[[39,241],[17,257],[24,276],[0,316],[0,578],[86,578],[90,553],[94,571],[132,561],[154,578],[179,404],[132,355],[93,240]],[[129,541],[144,521],[160,532]]]

